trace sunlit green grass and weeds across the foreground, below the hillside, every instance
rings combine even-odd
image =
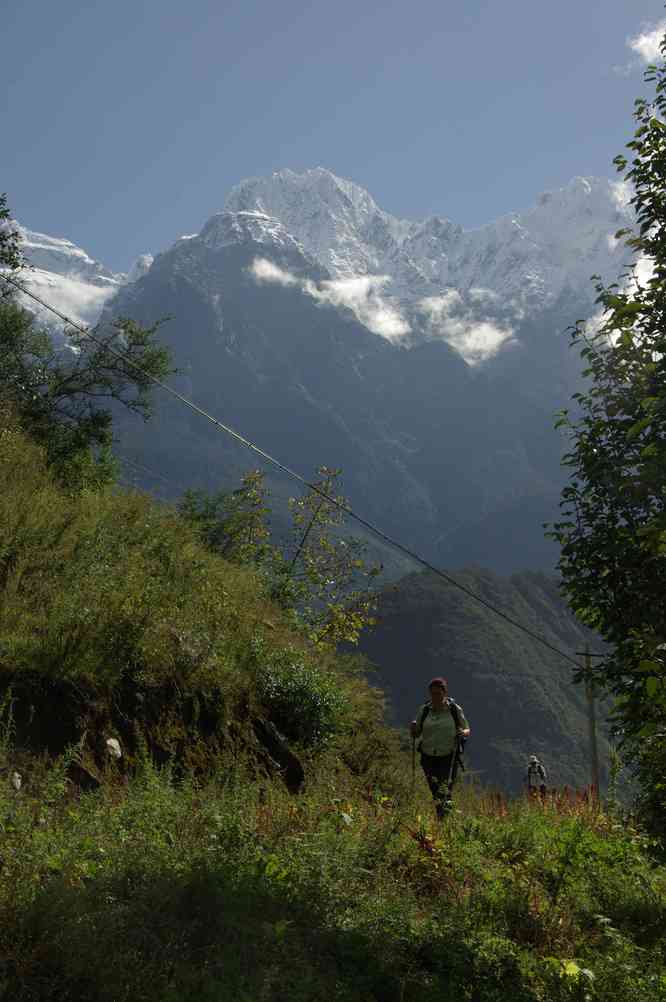
[[[0,798],[5,997],[666,998],[649,840],[473,788],[438,826],[405,765],[383,791],[330,750],[293,798],[240,762],[176,783],[145,759],[83,796],[33,764]]]

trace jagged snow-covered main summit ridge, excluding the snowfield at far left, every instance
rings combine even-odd
[[[386,307],[404,315],[406,330],[444,337],[473,363],[511,340],[507,311],[521,319],[565,292],[591,297],[594,274],[615,279],[626,249],[614,233],[631,223],[618,185],[596,177],[576,177],[532,208],[471,230],[441,216],[397,218],[322,167],[241,181],[225,207],[279,220],[334,283],[381,279]],[[503,324],[493,323],[493,297]]]

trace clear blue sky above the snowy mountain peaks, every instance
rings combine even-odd
[[[0,190],[117,270],[284,166],[480,225],[613,175],[665,16],[663,0],[14,4]]]

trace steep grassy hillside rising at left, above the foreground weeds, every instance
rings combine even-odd
[[[173,510],[62,490],[11,426],[0,482],[0,684],[19,745],[77,744],[94,784],[109,736],[130,766],[147,743],[158,761],[209,772],[266,721],[309,752],[378,716],[349,659],[310,649],[261,580],[207,551]]]

